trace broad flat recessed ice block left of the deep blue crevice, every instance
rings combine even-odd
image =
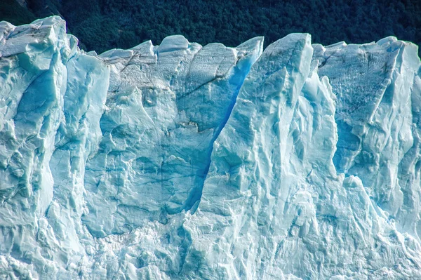
[[[262,38],[237,48],[170,36],[100,60],[111,69],[102,140],[85,173],[93,236],[121,234],[199,201],[213,141]]]

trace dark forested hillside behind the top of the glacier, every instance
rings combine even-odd
[[[237,46],[253,36],[272,43],[308,32],[324,45],[366,43],[385,36],[421,44],[420,0],[2,0],[0,20],[15,25],[61,15],[81,48],[98,53],[183,34],[200,44]]]

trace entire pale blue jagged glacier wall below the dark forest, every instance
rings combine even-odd
[[[0,22],[0,278],[420,278],[417,46],[262,41]]]

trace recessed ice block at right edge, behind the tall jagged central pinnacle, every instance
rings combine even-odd
[[[329,76],[338,96],[338,172],[359,176],[399,230],[420,240],[417,46],[387,37],[315,49],[319,74]]]

